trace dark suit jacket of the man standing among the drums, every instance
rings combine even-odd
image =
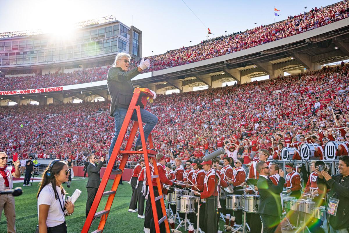
[[[257,187],[259,192],[258,213],[272,216],[281,216],[282,206],[280,193],[282,192],[285,179],[280,177],[279,183],[274,185],[269,179],[259,176]]]

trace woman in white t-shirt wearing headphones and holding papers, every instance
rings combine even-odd
[[[67,233],[65,215],[74,212],[74,204],[65,201],[63,182],[67,182],[69,170],[67,163],[53,160],[46,168],[38,191],[39,233]],[[67,210],[67,214],[64,211]]]

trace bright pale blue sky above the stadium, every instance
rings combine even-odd
[[[276,21],[303,13],[313,7],[331,5],[333,0],[292,1],[208,1],[184,0],[149,1],[81,1],[81,0],[1,0],[0,32],[62,27],[65,24],[114,15],[127,26],[143,33],[143,56],[190,46],[206,39],[207,26],[214,36],[244,31],[274,22],[274,6],[280,10]]]

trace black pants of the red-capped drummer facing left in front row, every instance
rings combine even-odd
[[[217,209],[217,199],[215,199],[214,196],[210,196],[209,198],[206,198],[205,227],[204,227],[205,232],[212,232],[212,233],[217,232],[218,214],[216,209]]]

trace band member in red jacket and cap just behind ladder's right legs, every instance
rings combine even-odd
[[[162,187],[163,183],[167,184],[167,185],[173,185],[174,182],[172,182],[169,179],[167,179],[167,177],[165,175],[165,169],[164,169],[164,166],[165,166],[165,155],[163,153],[158,153],[158,154],[156,154],[155,159],[157,161],[156,165],[157,165],[157,170],[158,170],[159,179],[160,179],[160,186]],[[151,173],[152,175],[154,174],[154,169],[155,168],[153,168],[153,171]],[[151,182],[153,182],[154,197],[157,197],[157,196],[159,196],[159,191],[158,191],[157,184],[156,184],[156,178],[153,178],[151,180]],[[163,189],[163,193],[167,194],[167,189]],[[157,217],[158,217],[158,219],[161,219],[163,217],[163,214],[162,214],[162,208],[161,208],[160,200],[157,200],[155,202],[155,204],[156,204]],[[152,209],[150,200],[147,201],[146,216],[145,216],[144,222],[146,220],[147,221],[149,220],[150,229],[146,228],[145,232],[146,233],[149,233],[149,232],[155,233],[156,231],[155,231],[155,223],[154,223],[154,218],[153,218],[153,209]],[[159,227],[160,227],[160,232],[165,232],[166,231],[164,221],[160,224]]]

